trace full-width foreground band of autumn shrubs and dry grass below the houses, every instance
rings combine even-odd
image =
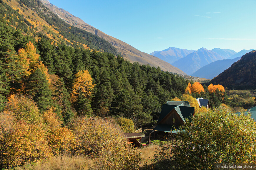
[[[214,169],[218,162],[256,162],[254,120],[224,107],[196,113],[169,142],[139,150],[114,119],[77,117],[63,127],[54,111],[40,113],[24,96],[9,98],[0,114],[1,169]]]

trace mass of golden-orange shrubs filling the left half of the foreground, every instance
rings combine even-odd
[[[49,108],[39,113],[24,96],[11,96],[0,114],[0,169],[35,163],[59,155],[94,159],[93,169],[136,169],[139,156],[111,120],[79,117],[62,127]]]

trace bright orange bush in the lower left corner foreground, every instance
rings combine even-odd
[[[52,156],[42,123],[19,121],[14,124],[13,131],[6,140],[8,150],[5,159],[9,161],[10,166],[19,166],[25,162],[34,162]]]

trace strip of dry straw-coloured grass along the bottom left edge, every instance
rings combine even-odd
[[[73,170],[73,169],[95,169],[93,159],[87,159],[80,156],[58,155],[52,159],[41,161],[36,164],[26,164],[17,167],[16,170],[33,169],[33,170]]]

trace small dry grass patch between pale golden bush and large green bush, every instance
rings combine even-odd
[[[150,165],[153,163],[154,153],[158,152],[157,148],[159,148],[159,146],[152,145],[144,149],[138,149],[138,152],[140,153],[140,157],[142,159],[139,164],[140,167],[143,167],[144,165]]]

